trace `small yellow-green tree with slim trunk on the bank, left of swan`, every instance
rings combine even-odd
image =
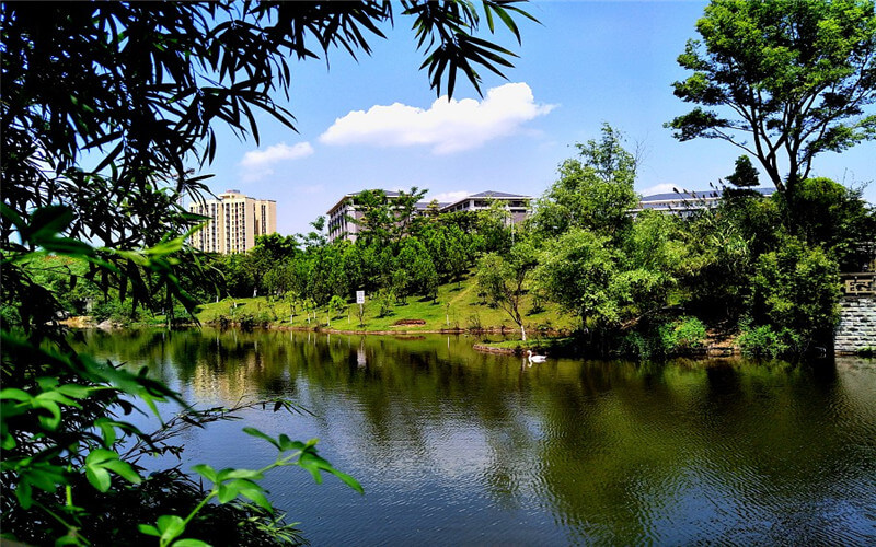
[[[538,265],[535,249],[528,242],[519,242],[503,257],[489,253],[477,265],[477,287],[485,293],[491,304],[503,309],[520,329],[523,341],[527,330],[520,306],[523,284]]]

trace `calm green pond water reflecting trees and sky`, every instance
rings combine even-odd
[[[876,543],[876,362],[549,360],[466,337],[90,333],[200,405],[286,396],[312,416],[246,415],[321,439],[364,485],[268,476],[313,545]],[[186,433],[184,467],[260,467],[241,422]]]

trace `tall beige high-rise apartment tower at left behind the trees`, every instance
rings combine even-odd
[[[207,224],[189,238],[193,247],[205,253],[245,253],[257,235],[277,231],[277,202],[255,199],[238,190],[226,190],[218,199],[189,203],[188,210],[207,217]]]

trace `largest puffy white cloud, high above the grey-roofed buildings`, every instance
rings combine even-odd
[[[354,110],[320,136],[325,144],[379,144],[383,147],[431,147],[433,153],[448,154],[477,148],[514,135],[520,127],[543,116],[556,105],[537,104],[526,83],[507,83],[487,91],[483,101],[436,100],[429,109],[394,103]]]

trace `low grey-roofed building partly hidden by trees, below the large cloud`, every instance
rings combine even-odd
[[[356,194],[347,194],[327,211],[328,216],[328,241],[344,237],[356,241],[359,232],[358,221],[362,213],[356,203]],[[389,200],[399,197],[397,191],[383,190]],[[522,222],[530,211],[531,196],[520,196],[504,191],[481,191],[452,202],[436,203],[430,201],[418,201],[415,214],[423,214],[429,209],[437,207],[438,213],[449,213],[458,211],[482,211],[489,209],[493,203],[498,202],[499,208],[509,213],[510,222]]]

